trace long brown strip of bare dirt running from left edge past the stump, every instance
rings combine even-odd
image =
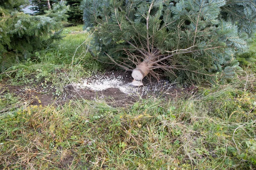
[[[103,78],[102,78],[103,77]],[[55,89],[48,83],[47,87],[42,87],[38,84],[27,85],[8,85],[7,82],[2,82],[0,95],[12,93],[15,96],[20,96],[24,101],[29,101],[31,105],[62,105],[72,99],[85,100],[104,100],[114,107],[123,106],[136,102],[140,98],[146,97],[165,97],[175,98],[178,96],[192,95],[198,90],[195,86],[186,88],[177,87],[175,83],[169,82],[166,79],[157,81],[156,79],[149,80],[148,77],[143,79],[143,86],[136,87],[130,85],[132,82],[131,72],[116,72],[106,71],[104,74],[94,75],[86,79],[87,84],[90,82],[105,81],[105,78],[113,79],[118,77],[122,82],[120,88],[106,88],[104,90],[93,90],[87,87],[78,87],[77,83],[67,84],[63,88],[63,93],[59,96],[54,95]],[[81,83],[83,80],[81,80]]]

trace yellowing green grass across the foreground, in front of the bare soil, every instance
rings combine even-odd
[[[71,101],[17,109],[0,119],[0,166],[253,169],[255,101],[248,92],[218,87],[200,98],[142,99],[128,108]]]

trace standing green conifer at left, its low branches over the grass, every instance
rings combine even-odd
[[[67,20],[67,9],[64,1],[55,4],[47,14],[37,16],[4,8],[5,13],[0,17],[1,71],[15,61],[29,59],[36,50],[60,39],[59,29],[61,21]]]

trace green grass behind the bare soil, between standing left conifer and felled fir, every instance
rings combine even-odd
[[[12,67],[0,74],[0,80],[9,77],[9,83],[14,85],[44,80],[67,82],[102,70],[101,63],[87,51],[90,36],[82,31],[81,25],[65,28],[62,35],[62,40],[52,42],[44,50],[36,51],[35,59],[18,64],[9,63]],[[15,58],[15,54],[9,55]]]

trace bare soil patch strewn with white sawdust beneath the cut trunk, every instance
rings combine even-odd
[[[177,87],[167,79],[149,79],[145,77],[142,86],[131,85],[131,72],[106,71],[89,78],[72,82],[64,87],[61,101],[69,99],[104,100],[111,106],[125,106],[140,98],[165,97],[169,99],[195,94],[195,86]]]

